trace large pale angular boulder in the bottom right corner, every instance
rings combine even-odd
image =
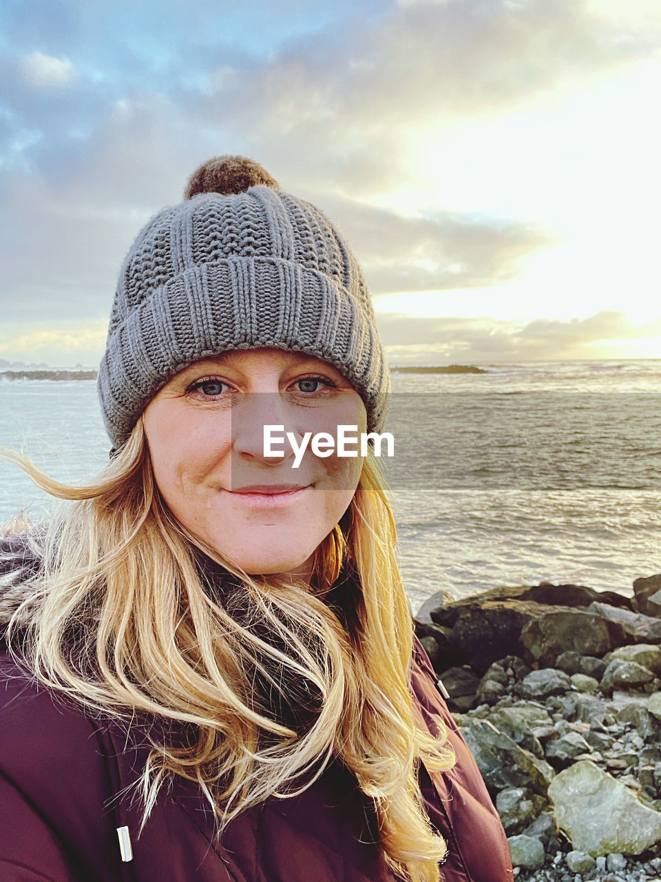
[[[557,774],[548,788],[553,816],[574,848],[592,857],[639,855],[661,839],[661,813],[649,809],[589,759]]]

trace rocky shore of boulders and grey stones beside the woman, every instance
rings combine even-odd
[[[548,583],[439,592],[416,632],[516,878],[661,882],[661,575],[631,598]]]

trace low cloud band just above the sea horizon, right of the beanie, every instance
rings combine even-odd
[[[394,365],[602,357],[613,341],[633,344],[661,337],[661,318],[632,325],[624,312],[615,311],[567,322],[535,319],[527,325],[494,318],[394,314],[379,314],[377,320],[387,357]]]

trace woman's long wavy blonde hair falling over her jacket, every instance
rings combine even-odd
[[[456,758],[440,718],[434,738],[413,717],[412,613],[374,454],[316,550],[309,587],[249,577],[175,522],[142,419],[92,486],[5,455],[41,489],[74,500],[51,519],[43,573],[12,617],[15,657],[86,712],[162,724],[161,736],[148,728],[137,781],[141,830],[174,774],[197,781],[220,835],[249,806],[306,789],[335,752],[374,800],[390,869],[411,882],[442,878],[447,846],[427,817],[418,768],[444,771]],[[223,579],[204,575],[200,550]],[[343,566],[353,580],[338,579]],[[299,707],[308,715],[293,720]]]

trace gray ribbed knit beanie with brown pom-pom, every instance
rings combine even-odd
[[[124,259],[97,384],[114,449],[191,362],[271,347],[333,364],[360,393],[368,430],[382,429],[390,377],[348,244],[256,162],[216,157]]]

